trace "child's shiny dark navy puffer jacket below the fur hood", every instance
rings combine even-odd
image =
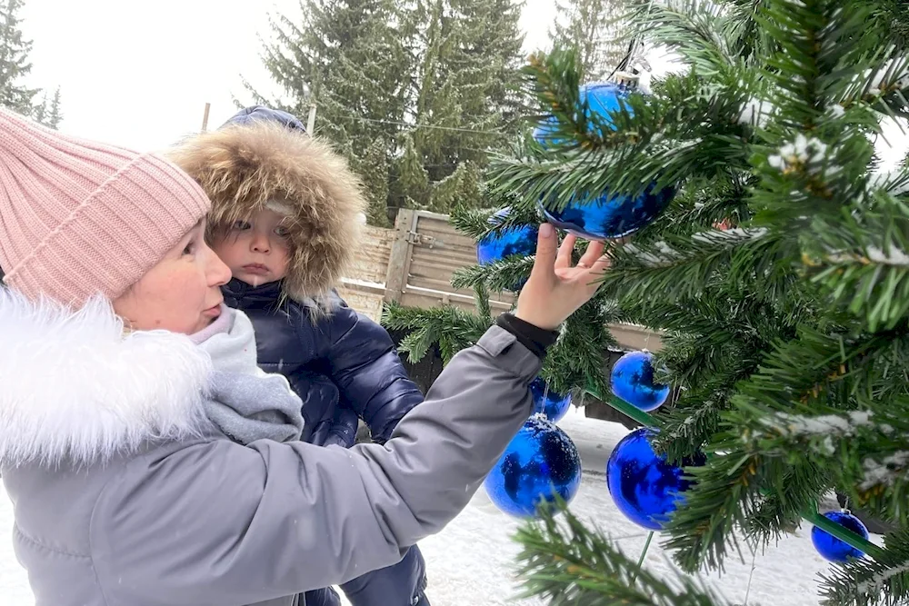
[[[305,442],[349,448],[358,418],[374,442],[385,442],[423,402],[385,329],[340,297],[313,322],[311,307],[282,302],[280,282],[254,287],[231,280],[222,290],[225,303],[253,323],[259,366],[285,375],[303,399]]]

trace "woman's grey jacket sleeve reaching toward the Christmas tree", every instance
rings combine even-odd
[[[240,604],[392,565],[471,499],[530,414],[539,367],[494,326],[384,445],[215,440],[129,462],[95,505],[98,582],[111,603],[128,589],[150,606]]]

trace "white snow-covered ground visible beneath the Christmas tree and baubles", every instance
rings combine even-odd
[[[638,555],[647,533],[625,520],[615,508],[604,481],[604,467],[614,445],[627,432],[616,423],[587,419],[572,410],[559,425],[574,440],[584,463],[581,491],[572,503],[575,513],[596,523],[626,553]],[[0,489],[2,492],[2,489]],[[25,571],[11,546],[13,512],[0,494],[0,603],[33,606]],[[519,522],[499,512],[481,488],[467,509],[448,527],[420,543],[429,572],[428,595],[434,606],[532,606],[540,601],[515,601],[511,537]],[[657,538],[658,539],[658,538]],[[654,539],[646,567],[673,575],[673,565]],[[828,564],[814,551],[810,528],[787,537],[754,558],[727,561],[724,574],[704,574],[704,582],[721,591],[730,604],[742,606],[808,606],[817,604],[817,575]],[[138,605],[137,605],[138,606]]]

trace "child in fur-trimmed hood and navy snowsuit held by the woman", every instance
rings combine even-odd
[[[365,208],[344,160],[294,116],[261,106],[170,155],[211,198],[209,240],[234,275],[225,303],[252,320],[260,367],[284,374],[303,400],[302,440],[349,448],[358,418],[374,442],[388,440],[423,394],[385,329],[335,293]],[[342,589],[354,606],[428,606],[425,586],[414,546]],[[329,589],[306,603],[340,600]]]

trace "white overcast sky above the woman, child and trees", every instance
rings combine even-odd
[[[235,113],[232,94],[250,102],[241,75],[275,92],[259,58],[275,13],[298,15],[298,0],[25,0],[23,29],[35,44],[29,81],[61,87],[61,130],[160,149],[198,131],[206,102],[212,127]],[[554,15],[554,0],[526,0],[525,51],[547,44]],[[654,73],[672,65],[650,58]],[[888,164],[906,147],[889,130]]]

